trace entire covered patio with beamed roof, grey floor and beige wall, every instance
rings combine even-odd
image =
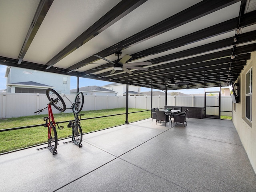
[[[82,148],[60,140],[57,155],[36,147],[1,155],[1,192],[256,191],[254,0],[0,0],[0,5],[0,64],[33,70],[28,75],[76,76],[77,91],[79,78],[166,95],[239,85],[232,121],[189,118],[186,127],[151,119],[128,124],[127,96],[127,124],[85,134]]]

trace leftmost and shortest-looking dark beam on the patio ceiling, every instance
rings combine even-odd
[[[18,56],[18,65],[21,64],[24,56],[26,55],[26,52],[28,51],[30,44],[32,43],[34,37],[36,36],[36,33],[40,28],[48,10],[50,9],[52,2],[53,0],[40,0],[38,7],[36,9],[36,13],[34,14],[32,23],[28,29],[25,41],[22,45],[20,54]]]

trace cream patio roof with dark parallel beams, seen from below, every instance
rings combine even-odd
[[[0,64],[159,90],[226,86],[256,50],[254,2],[1,0]],[[152,65],[110,74],[94,56],[119,51]]]

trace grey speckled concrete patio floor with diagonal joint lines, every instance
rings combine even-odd
[[[58,154],[37,147],[0,156],[1,192],[256,192],[232,121],[151,119],[84,134]]]

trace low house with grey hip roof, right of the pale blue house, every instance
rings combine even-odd
[[[117,92],[99,86],[81,87],[79,92],[82,92],[84,95],[117,96]],[[70,90],[70,94],[76,94],[76,89]]]

